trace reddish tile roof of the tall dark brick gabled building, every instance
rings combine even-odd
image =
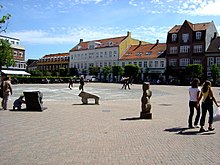
[[[196,24],[193,24],[189,21],[185,21],[185,22],[188,23],[188,25],[191,27],[191,29],[193,31],[206,30],[211,24],[211,22],[196,23]],[[178,33],[178,31],[180,30],[181,27],[182,27],[182,25],[175,25],[168,33]]]

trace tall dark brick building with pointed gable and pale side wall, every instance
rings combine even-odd
[[[217,35],[213,21],[193,24],[185,20],[175,25],[167,34],[167,66],[178,71],[189,64],[202,64],[206,69],[205,52]]]

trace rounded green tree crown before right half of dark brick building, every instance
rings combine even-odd
[[[201,78],[203,67],[201,64],[189,64],[185,69],[186,76],[191,78]]]

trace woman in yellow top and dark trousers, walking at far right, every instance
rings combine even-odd
[[[203,98],[203,100],[202,100],[202,117],[200,119],[200,126],[201,126],[200,132],[205,132],[206,131],[204,129],[204,125],[205,125],[205,119],[206,119],[207,111],[209,112],[208,130],[213,131],[214,130],[214,128],[212,126],[212,124],[213,124],[213,101],[214,101],[214,103],[217,107],[219,107],[219,105],[218,105],[218,103],[217,103],[217,101],[214,97],[214,94],[213,94],[213,91],[212,91],[212,88],[211,88],[211,82],[206,80],[203,83],[201,91],[202,92],[200,93],[200,95],[198,97],[198,100],[197,100],[197,105],[199,105],[200,100]]]

